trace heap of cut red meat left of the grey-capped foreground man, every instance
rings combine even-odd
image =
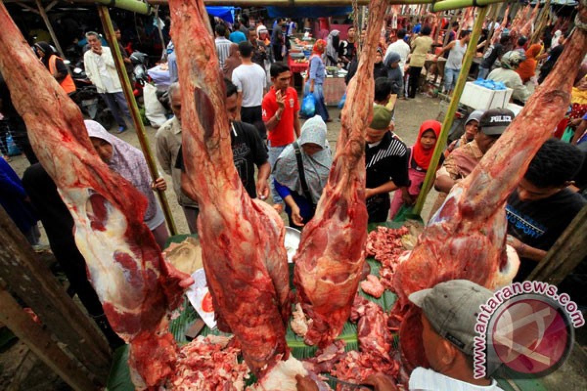
[[[330,374],[349,383],[362,383],[374,373],[397,377],[399,363],[390,355],[392,335],[387,328],[387,314],[375,302],[357,295],[351,320],[358,320],[357,336],[360,351],[346,353]]]

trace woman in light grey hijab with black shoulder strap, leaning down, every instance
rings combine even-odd
[[[296,149],[299,155],[296,155]],[[301,162],[298,162],[298,157]],[[298,141],[281,152],[273,168],[275,189],[285,202],[289,226],[301,229],[312,219],[331,165],[326,124],[316,115],[303,124]],[[302,184],[302,176],[307,186]]]

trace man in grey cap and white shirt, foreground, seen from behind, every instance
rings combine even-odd
[[[410,295],[422,310],[422,343],[431,367],[411,372],[410,391],[501,391],[495,380],[473,376],[477,314],[492,296],[490,290],[468,280],[446,281]],[[398,389],[383,373],[364,383],[376,391]]]

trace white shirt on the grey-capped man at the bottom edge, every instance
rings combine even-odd
[[[409,389],[410,391],[503,391],[497,386],[495,380],[491,380],[490,386],[476,386],[421,366],[411,372]]]

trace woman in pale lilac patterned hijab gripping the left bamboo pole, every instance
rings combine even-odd
[[[161,206],[155,199],[153,189],[166,190],[165,179],[158,178],[151,183],[149,167],[145,161],[143,152],[134,148],[128,142],[110,134],[96,121],[84,121],[87,135],[92,141],[97,154],[108,167],[133,184],[147,198],[147,210],[144,214],[144,223],[149,227],[155,237],[155,241],[163,249],[169,237],[169,231],[165,225],[165,215]]]

